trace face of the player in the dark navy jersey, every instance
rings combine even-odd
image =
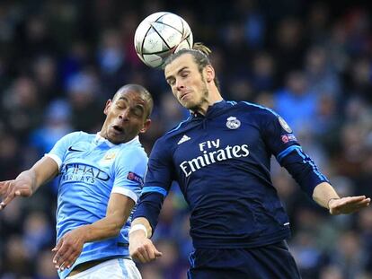
[[[173,95],[186,109],[197,111],[208,106],[208,87],[203,74],[192,55],[184,54],[173,60],[164,69],[166,82]]]

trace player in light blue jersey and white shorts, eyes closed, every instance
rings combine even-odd
[[[152,109],[144,87],[125,85],[107,101],[100,132],[65,135],[30,170],[0,182],[3,209],[59,175],[53,263],[61,278],[141,278],[128,254],[128,228],[146,173],[138,134]]]

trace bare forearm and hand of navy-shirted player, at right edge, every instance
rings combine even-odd
[[[371,202],[366,196],[340,197],[327,182],[320,183],[314,188],[313,199],[318,205],[327,208],[332,215],[352,214],[367,207]]]

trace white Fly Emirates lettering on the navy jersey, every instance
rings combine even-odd
[[[217,161],[226,161],[230,159],[247,157],[249,155],[248,145],[226,145],[220,147],[220,140],[207,141],[199,144],[199,150],[202,154],[191,159],[190,161],[182,161],[180,168],[186,177],[194,171],[204,168]]]

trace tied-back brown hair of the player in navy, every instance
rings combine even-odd
[[[167,57],[165,59],[164,65],[162,65],[163,69],[166,65],[171,64],[174,59],[181,57],[183,54],[189,53],[193,58],[195,63],[198,65],[199,73],[201,74],[203,72],[203,69],[207,65],[212,65],[209,60],[209,55],[212,53],[212,50],[208,48],[206,45],[204,45],[201,42],[196,42],[192,46],[192,48],[182,48],[178,50],[177,52],[173,53],[170,57]],[[220,85],[219,81],[217,79],[217,75],[215,76],[214,82],[217,86],[218,91],[220,92]]]

